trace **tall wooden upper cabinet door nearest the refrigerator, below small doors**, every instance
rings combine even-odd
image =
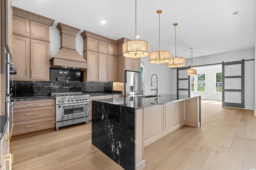
[[[108,55],[108,81],[117,81],[117,59],[111,55]]]

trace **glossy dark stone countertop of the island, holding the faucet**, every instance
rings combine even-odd
[[[125,98],[113,98],[113,99],[100,99],[98,102],[104,102],[109,104],[115,104],[118,106],[132,107],[135,109],[142,109],[146,107],[152,107],[156,105],[167,104],[170,102],[178,102],[190,98],[197,98],[200,96],[195,95],[179,95],[176,94],[159,94],[159,97],[145,98],[142,96],[125,97]]]

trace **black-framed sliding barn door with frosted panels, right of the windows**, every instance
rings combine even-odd
[[[244,108],[244,60],[222,63],[222,107]]]

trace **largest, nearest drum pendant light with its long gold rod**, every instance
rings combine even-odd
[[[135,0],[135,40],[123,43],[123,55],[130,58],[142,58],[149,54],[149,43],[137,40],[137,3]]]

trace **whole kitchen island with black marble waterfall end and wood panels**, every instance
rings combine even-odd
[[[92,101],[92,144],[126,170],[145,168],[144,147],[183,125],[201,125],[200,96]]]

